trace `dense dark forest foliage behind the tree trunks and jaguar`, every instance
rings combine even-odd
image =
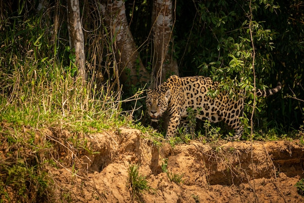
[[[73,76],[75,67],[73,51],[68,49],[66,2],[50,0],[49,3],[40,11],[38,0],[2,3],[0,60],[4,73],[11,74],[22,63],[31,60],[41,68],[36,70],[37,74],[37,71],[48,71],[43,67],[51,68],[56,61]],[[111,31],[104,25],[95,1],[82,3],[86,3],[81,5],[86,58],[96,64],[94,69],[88,69],[89,81],[100,88],[103,88],[102,84],[108,84],[112,89],[107,90],[119,92],[120,88],[114,84],[117,78],[113,77],[116,71],[115,43]],[[125,3],[130,29],[141,59],[149,69],[153,62],[152,0]],[[304,4],[301,0],[176,0],[173,4],[176,11],[173,55],[181,76],[210,76],[220,81],[221,88],[232,96],[239,89],[252,90],[253,39],[255,85],[264,88],[273,87],[278,81],[283,84],[279,94],[257,99],[256,128],[263,131],[275,128],[277,133],[288,133],[303,124]],[[60,18],[57,19],[55,14]],[[16,61],[18,65],[13,65]],[[6,83],[1,86],[5,87],[2,88],[4,94],[13,88]],[[128,98],[138,87],[142,84],[124,89],[118,97]],[[247,92],[249,100],[245,116],[250,118],[253,93]],[[133,105],[132,109],[135,103],[140,106],[144,102],[133,101],[128,105]]]

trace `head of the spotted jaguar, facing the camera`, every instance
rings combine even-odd
[[[151,120],[156,122],[168,108],[170,90],[153,89],[147,93],[146,105]]]

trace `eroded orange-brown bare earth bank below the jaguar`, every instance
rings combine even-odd
[[[139,174],[153,188],[141,196],[146,203],[304,202],[294,186],[304,178],[304,147],[296,141],[217,146],[191,141],[171,148],[167,143],[153,146],[146,135],[132,129],[85,137],[90,153],[75,155],[61,147],[57,158],[62,167],[50,168],[58,202],[137,202],[131,199],[128,183],[130,164],[139,164]],[[165,162],[168,173],[183,174],[182,182],[169,180],[161,168]]]

